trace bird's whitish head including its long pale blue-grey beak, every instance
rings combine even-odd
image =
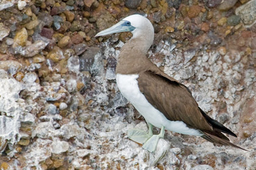
[[[112,27],[99,32],[96,36],[119,32],[131,32],[133,38],[138,36],[152,36],[151,39],[154,39],[153,25],[147,18],[138,14],[127,16]]]

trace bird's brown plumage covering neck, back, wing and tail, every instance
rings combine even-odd
[[[146,53],[138,48],[137,44],[140,41],[140,38],[133,38],[124,45],[119,55],[116,73],[138,74],[137,81],[141,93],[168,120],[183,121],[188,127],[200,130],[204,134],[202,137],[212,143],[240,148],[231,143],[222,132],[233,137],[236,135],[206,115],[185,85],[151,63]]]

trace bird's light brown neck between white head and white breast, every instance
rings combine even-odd
[[[152,41],[133,36],[124,46],[119,54],[116,73],[135,74],[151,66],[151,61],[146,57]]]

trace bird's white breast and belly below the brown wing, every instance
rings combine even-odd
[[[140,92],[138,87],[137,74],[134,75],[116,75],[116,84],[121,94],[127,98],[127,100],[132,103],[132,105],[140,112],[148,123],[153,126],[161,128],[165,126],[166,130],[177,132],[186,135],[197,135],[201,136],[201,132],[196,129],[191,129],[187,127],[183,121],[169,121],[165,115],[160,111],[155,109],[146,97]]]

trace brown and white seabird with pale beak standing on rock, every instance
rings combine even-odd
[[[130,15],[95,36],[120,32],[131,32],[132,38],[119,53],[116,84],[149,127],[149,132],[130,129],[127,133],[130,140],[141,143],[143,149],[154,152],[158,140],[168,130],[199,136],[218,145],[243,149],[222,134],[237,137],[230,129],[205,114],[187,86],[169,77],[147,58],[154,41],[154,27],[149,19],[138,14]],[[153,126],[161,129],[160,134],[153,134]]]

